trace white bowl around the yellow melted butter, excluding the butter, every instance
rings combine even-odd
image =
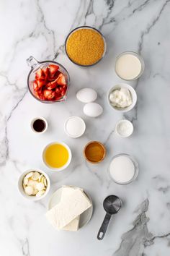
[[[64,165],[64,166],[62,166],[62,167],[60,167],[60,168],[54,168],[54,167],[51,167],[48,163],[46,163],[46,161],[45,161],[45,150],[50,146],[50,145],[53,145],[53,144],[61,144],[61,145],[63,145],[67,150],[68,150],[68,161],[67,161],[67,163]],[[43,162],[45,163],[45,166],[48,166],[48,168],[50,168],[50,170],[51,171],[63,171],[64,169],[66,169],[68,166],[69,166],[69,164],[71,163],[71,158],[72,158],[72,154],[71,154],[71,149],[68,147],[68,145],[66,145],[66,143],[64,143],[64,142],[58,142],[58,141],[55,141],[55,142],[51,142],[51,143],[49,143],[48,145],[46,145],[45,146],[45,148],[44,148],[44,150],[43,150],[43,152],[42,152],[42,160],[43,160]]]

